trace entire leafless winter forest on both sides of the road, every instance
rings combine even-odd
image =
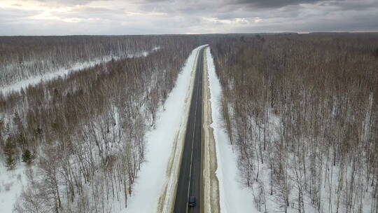
[[[259,212],[378,212],[377,34],[3,36],[0,162],[15,212],[127,207],[145,135],[188,55],[209,44],[241,184]]]

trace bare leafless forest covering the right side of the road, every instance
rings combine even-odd
[[[244,35],[211,50],[260,212],[378,212],[377,36]]]

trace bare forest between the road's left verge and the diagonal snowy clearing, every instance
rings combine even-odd
[[[146,57],[111,60],[0,97],[1,156],[9,170],[20,161],[32,165],[16,212],[127,206],[144,162],[146,130],[200,44],[196,36],[151,40],[161,48]]]

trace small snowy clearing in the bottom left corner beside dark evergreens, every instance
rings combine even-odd
[[[7,171],[3,163],[0,163],[0,212],[10,213],[17,201],[22,188],[27,185],[24,173],[25,166],[17,165],[14,170]]]

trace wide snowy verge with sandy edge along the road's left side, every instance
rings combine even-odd
[[[186,129],[195,64],[202,47],[195,48],[188,57],[165,102],[165,111],[160,107],[156,128],[146,135],[146,163],[141,167],[134,193],[128,200],[128,213],[170,212],[185,137],[181,133]],[[158,209],[159,203],[164,209]]]

